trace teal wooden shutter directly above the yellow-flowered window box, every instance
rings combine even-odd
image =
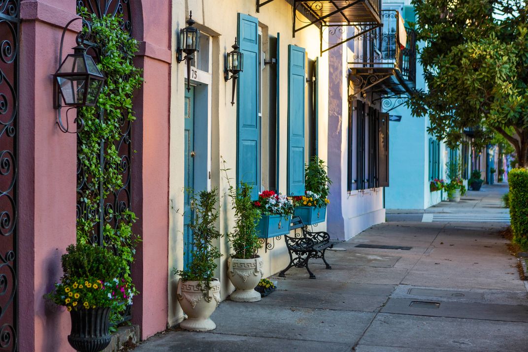
[[[304,194],[305,49],[288,45],[288,195]]]

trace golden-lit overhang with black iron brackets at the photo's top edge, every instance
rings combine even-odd
[[[260,7],[274,0],[256,0],[257,12]],[[311,25],[319,28],[321,47],[325,51],[352,40],[354,37],[346,38],[339,43],[334,43],[323,50],[323,28],[357,26],[362,27],[364,32],[369,32],[375,27],[381,26],[380,5],[381,0],[286,0],[294,9],[293,36]],[[299,16],[301,14],[302,16]],[[335,29],[334,29],[335,31]]]

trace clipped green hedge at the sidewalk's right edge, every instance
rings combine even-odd
[[[513,242],[528,249],[528,169],[516,168],[508,173],[510,184],[510,217]]]

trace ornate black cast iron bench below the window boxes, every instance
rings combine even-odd
[[[297,230],[301,229],[301,233]],[[291,219],[290,230],[295,231],[295,237],[284,235],[288,253],[290,255],[290,263],[286,269],[279,273],[280,277],[284,277],[285,273],[291,268],[306,268],[310,274],[310,279],[315,279],[315,275],[308,268],[308,260],[310,258],[320,258],[326,264],[326,269],[332,269],[330,264],[326,262],[325,251],[328,248],[333,248],[334,244],[339,241],[330,241],[330,235],[327,232],[312,232],[308,231],[307,226],[303,223],[303,220],[299,216],[295,216]]]

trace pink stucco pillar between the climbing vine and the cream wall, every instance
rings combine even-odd
[[[170,2],[144,0],[133,8],[133,35],[139,41],[136,63],[144,85],[134,98],[132,207],[142,236],[132,273],[138,290],[133,322],[142,338],[167,326],[168,317],[168,156],[170,85]]]

